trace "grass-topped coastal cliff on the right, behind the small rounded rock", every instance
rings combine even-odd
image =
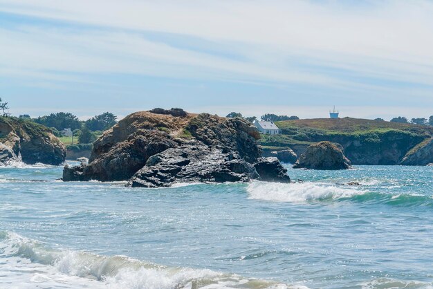
[[[425,143],[432,138],[433,127],[356,118],[288,120],[276,124],[282,135],[264,136],[260,142],[265,151],[291,148],[300,156],[308,146],[329,141],[342,145],[344,155],[353,165],[433,162],[433,146]]]

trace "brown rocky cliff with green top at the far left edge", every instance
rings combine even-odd
[[[0,162],[8,165],[12,160],[26,164],[42,162],[60,165],[64,162],[66,147],[50,129],[18,118],[0,118]]]

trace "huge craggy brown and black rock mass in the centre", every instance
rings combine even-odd
[[[65,167],[63,179],[129,180],[131,187],[173,183],[290,182],[274,160],[259,160],[259,133],[240,118],[154,109],[128,115],[93,144],[89,164]],[[260,173],[255,165],[268,165]],[[260,171],[264,171],[263,169]]]

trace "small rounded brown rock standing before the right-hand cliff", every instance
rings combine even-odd
[[[351,162],[344,156],[341,145],[317,142],[302,153],[293,168],[300,169],[349,169]]]

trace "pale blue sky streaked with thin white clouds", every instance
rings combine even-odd
[[[433,115],[432,0],[0,0],[10,113]]]

